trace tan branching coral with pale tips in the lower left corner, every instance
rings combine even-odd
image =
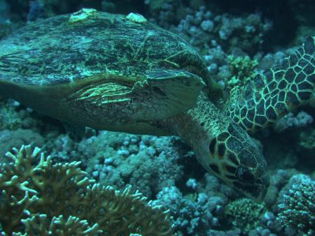
[[[130,188],[93,184],[80,162],[53,164],[22,146],[0,165],[0,223],[12,235],[172,235],[169,217]],[[38,156],[40,158],[38,160]]]

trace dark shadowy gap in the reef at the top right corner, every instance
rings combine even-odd
[[[211,1],[215,8],[221,12],[231,14],[261,13],[265,19],[273,22],[272,30],[265,37],[264,50],[272,51],[277,45],[288,46],[300,34],[298,27],[314,27],[315,25],[315,1],[273,1],[273,0],[214,0]]]

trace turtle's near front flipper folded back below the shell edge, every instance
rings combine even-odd
[[[66,121],[109,130],[114,125],[165,119],[195,106],[203,84],[199,76],[182,70],[150,71],[132,85],[100,80],[66,98],[69,117],[75,117]]]

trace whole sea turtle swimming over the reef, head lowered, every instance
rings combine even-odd
[[[201,165],[255,200],[267,163],[246,132],[314,94],[314,37],[279,66],[218,93],[180,36],[141,15],[83,9],[27,24],[0,45],[0,94],[78,126],[179,135]]]

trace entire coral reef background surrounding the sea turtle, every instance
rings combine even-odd
[[[140,13],[180,35],[227,93],[315,35],[311,0],[0,0],[0,40],[29,22],[83,7]],[[313,101],[252,136],[267,159],[271,182],[264,202],[254,202],[204,170],[178,137],[86,128],[84,138],[75,140],[59,121],[0,97],[0,235],[62,235],[69,226],[72,233],[64,235],[315,235],[314,117]],[[32,155],[35,147],[50,158],[40,161],[38,149]],[[6,169],[8,163],[14,171]],[[101,185],[88,189],[91,179]],[[61,182],[69,187],[60,190]],[[34,189],[41,200],[37,207],[31,206]],[[79,198],[80,191],[89,198]],[[69,209],[76,219],[49,215],[64,199],[78,207]],[[84,218],[85,201],[92,205]],[[105,203],[109,209],[102,212]],[[101,220],[100,211],[106,215]]]

